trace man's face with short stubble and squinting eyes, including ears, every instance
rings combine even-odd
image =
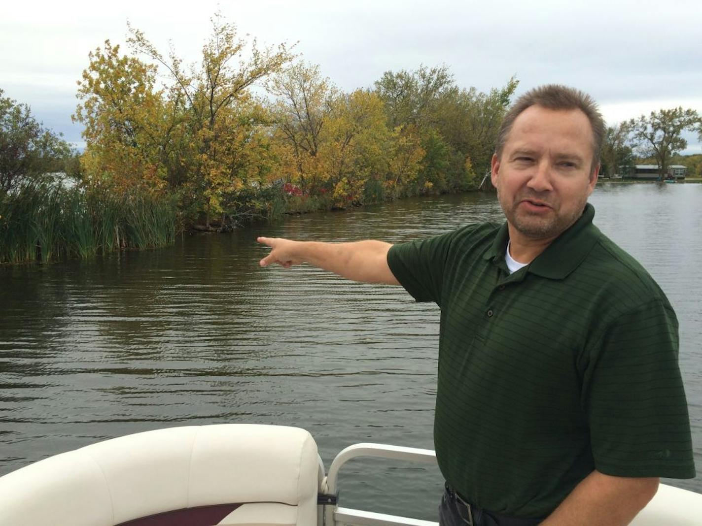
[[[591,165],[592,127],[579,109],[531,106],[519,114],[492,159],[510,237],[555,238],[576,222],[600,171]]]

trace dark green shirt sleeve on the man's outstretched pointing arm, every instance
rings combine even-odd
[[[441,306],[444,268],[456,232],[392,245],[388,266],[397,281],[418,302]]]

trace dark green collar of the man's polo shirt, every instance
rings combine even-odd
[[[563,279],[568,276],[581,264],[600,238],[600,229],[592,224],[593,217],[595,217],[595,207],[587,203],[578,220],[555,238],[546,250],[529,264],[527,271],[550,279]],[[493,262],[500,264],[500,259],[504,261],[505,248],[509,239],[510,234],[505,221],[483,258],[492,259]]]

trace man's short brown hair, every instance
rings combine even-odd
[[[560,84],[546,84],[533,88],[519,97],[512,107],[505,114],[500,130],[497,135],[495,153],[502,156],[502,150],[507,142],[507,137],[512,130],[515,120],[531,106],[541,106],[548,109],[579,109],[588,117],[592,128],[592,168],[600,163],[600,151],[602,151],[602,141],[604,140],[604,119],[597,108],[597,103],[587,93]]]

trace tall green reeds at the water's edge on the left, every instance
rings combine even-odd
[[[86,259],[176,238],[173,200],[32,182],[0,194],[0,264]]]

